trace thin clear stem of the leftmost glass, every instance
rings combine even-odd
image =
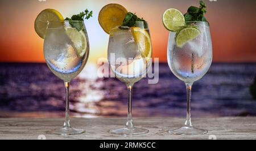
[[[69,82],[64,82],[65,84],[65,122],[63,127],[71,127],[69,120]]]

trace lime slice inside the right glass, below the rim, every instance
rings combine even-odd
[[[176,34],[176,37],[175,37],[176,45],[179,48],[182,48],[186,44],[186,42],[195,39],[196,37],[199,36],[199,34],[200,34],[200,31],[197,28],[194,28],[194,27],[183,28]]]

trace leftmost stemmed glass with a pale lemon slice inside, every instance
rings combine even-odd
[[[49,21],[44,38],[44,58],[49,69],[63,80],[65,85],[64,126],[49,133],[74,135],[85,132],[71,127],[69,84],[82,71],[88,57],[89,40],[83,21]]]

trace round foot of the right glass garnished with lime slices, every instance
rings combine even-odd
[[[170,130],[169,133],[177,134],[177,135],[202,135],[202,134],[208,133],[208,131],[200,128],[184,126],[184,127],[177,128],[175,130]]]

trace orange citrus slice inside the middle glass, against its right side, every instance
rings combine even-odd
[[[138,44],[142,57],[147,60],[152,57],[151,38],[148,32],[138,27],[131,27],[134,41]]]

